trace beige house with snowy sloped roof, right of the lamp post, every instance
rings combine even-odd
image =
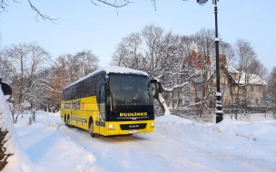
[[[245,106],[261,106],[263,88],[267,83],[260,76],[242,72],[226,62],[221,61],[221,92],[223,109]],[[211,86],[216,83],[215,74],[211,78]]]

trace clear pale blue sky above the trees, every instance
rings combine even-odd
[[[133,32],[155,24],[165,32],[191,35],[201,28],[214,29],[212,0],[206,5],[196,1],[134,1],[133,4],[115,9],[108,5],[93,5],[89,0],[32,1],[42,14],[58,18],[57,24],[35,20],[35,12],[27,4],[10,2],[7,13],[0,15],[2,47],[11,43],[37,42],[54,60],[64,53],[92,50],[100,65],[111,62],[115,46]],[[251,43],[258,59],[270,71],[276,66],[276,11],[274,0],[218,2],[218,31],[228,43],[244,39]]]

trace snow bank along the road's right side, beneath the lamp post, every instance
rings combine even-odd
[[[271,154],[276,152],[275,121],[235,124],[223,119],[218,124],[207,126],[171,115],[157,117],[155,126],[155,132],[172,139],[191,140],[199,148],[231,151],[233,155],[251,154],[265,159],[275,158]]]

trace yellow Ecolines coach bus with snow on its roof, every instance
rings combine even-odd
[[[146,72],[102,67],[64,88],[61,119],[91,136],[153,132],[153,91]]]

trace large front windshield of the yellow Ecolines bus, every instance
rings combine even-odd
[[[146,76],[113,74],[109,76],[109,85],[113,109],[123,105],[153,105],[153,91]]]

